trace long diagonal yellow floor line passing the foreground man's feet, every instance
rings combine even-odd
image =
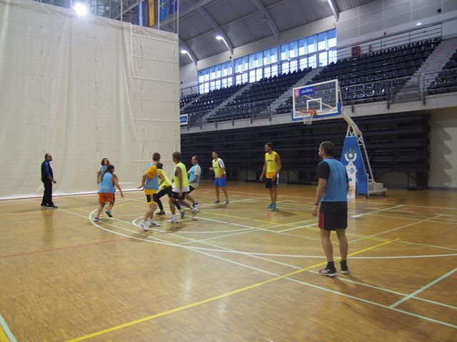
[[[363,252],[368,252],[371,249],[375,249],[375,248],[378,248],[378,247],[381,247],[381,246],[383,246],[385,244],[390,244],[390,243],[391,242],[388,241],[388,242],[383,242],[382,244],[376,244],[376,245],[374,245],[372,247],[367,247],[365,249],[361,249],[358,252],[354,252],[354,253],[348,254],[348,257],[353,257],[354,255],[361,254]],[[336,258],[336,260],[338,260],[338,259],[340,259],[340,258]],[[298,269],[298,270],[290,272],[288,274],[284,274],[283,276],[276,276],[276,277],[274,277],[272,279],[268,279],[266,281],[261,281],[261,282],[256,283],[256,284],[252,284],[252,285],[243,287],[241,289],[236,289],[236,290],[233,290],[233,291],[230,291],[230,292],[226,292],[225,294],[220,294],[219,296],[214,296],[214,297],[211,297],[209,299],[204,299],[203,301],[197,301],[196,303],[188,304],[188,305],[185,305],[185,306],[180,306],[179,308],[171,309],[171,310],[168,310],[168,311],[163,311],[163,312],[160,312],[159,314],[155,314],[155,315],[151,315],[151,316],[147,316],[147,317],[144,317],[144,318],[137,319],[136,321],[131,321],[131,322],[128,322],[128,323],[121,324],[119,326],[114,326],[112,328],[107,328],[107,329],[104,329],[104,330],[101,330],[101,331],[97,331],[96,333],[91,333],[89,335],[81,336],[79,338],[74,338],[73,340],[69,340],[68,342],[84,341],[84,340],[87,340],[89,338],[93,338],[95,336],[103,335],[104,333],[109,333],[111,331],[116,331],[116,330],[119,330],[121,328],[126,328],[126,327],[129,327],[129,326],[134,326],[136,324],[146,322],[146,321],[151,321],[154,318],[159,318],[159,317],[166,316],[166,315],[169,315],[169,314],[174,314],[175,312],[178,312],[178,311],[183,311],[183,310],[186,310],[186,309],[189,309],[189,308],[194,308],[195,306],[200,306],[202,304],[210,303],[211,301],[216,301],[218,299],[223,299],[223,298],[226,298],[228,296],[232,296],[233,294],[239,294],[239,293],[241,293],[243,291],[248,291],[250,289],[255,289],[258,286],[262,286],[262,285],[271,283],[273,281],[281,280],[281,279],[287,278],[289,276],[293,276],[295,274],[299,274],[299,273],[301,273],[303,271],[308,271],[308,269],[313,269],[313,268],[318,267],[318,266],[323,266],[325,264],[327,264],[327,261],[323,261],[323,262],[320,262],[318,264],[314,264],[312,266],[308,266],[308,267],[306,267],[304,269]]]

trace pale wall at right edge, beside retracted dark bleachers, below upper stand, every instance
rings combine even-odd
[[[431,115],[428,185],[457,190],[457,108]]]

